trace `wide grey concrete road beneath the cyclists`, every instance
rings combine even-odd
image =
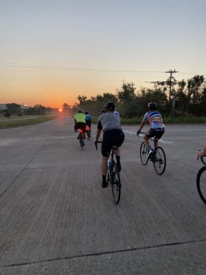
[[[80,150],[71,118],[0,130],[1,275],[206,273],[205,125],[166,126],[161,176],[141,165],[137,126],[123,129],[117,206],[100,186],[100,148]]]

